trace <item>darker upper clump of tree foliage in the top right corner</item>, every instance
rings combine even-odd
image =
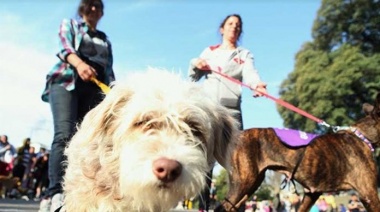
[[[325,51],[348,43],[379,52],[379,11],[378,0],[323,0],[313,26],[315,44]]]

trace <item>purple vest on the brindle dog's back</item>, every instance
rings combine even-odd
[[[317,134],[287,128],[273,129],[283,143],[292,147],[307,146],[315,137],[319,136]]]

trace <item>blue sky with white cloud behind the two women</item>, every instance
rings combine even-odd
[[[50,146],[52,118],[40,100],[45,75],[57,62],[57,31],[75,17],[78,0],[3,0],[0,4],[0,134],[20,146],[26,137]],[[269,94],[294,69],[295,54],[311,40],[321,5],[316,0],[104,0],[98,25],[113,44],[114,70],[122,79],[148,66],[187,72],[191,58],[218,44],[223,18],[243,18],[240,45],[251,50]],[[245,128],[282,127],[275,103],[243,92]]]

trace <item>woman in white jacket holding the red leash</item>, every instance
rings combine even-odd
[[[215,98],[225,107],[235,110],[240,129],[243,129],[241,113],[242,86],[230,79],[214,73],[215,71],[243,81],[253,89],[253,96],[259,97],[267,93],[266,83],[262,82],[254,66],[252,53],[241,46],[238,41],[243,32],[243,21],[240,15],[232,14],[224,18],[219,27],[222,43],[207,47],[201,55],[190,61],[189,76],[193,81],[205,77],[204,85]],[[212,170],[207,178],[208,185],[212,179]],[[208,189],[205,189],[200,198],[200,211],[208,211]]]

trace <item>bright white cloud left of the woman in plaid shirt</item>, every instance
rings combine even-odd
[[[49,104],[40,96],[45,76],[54,64],[54,55],[36,48],[33,38],[38,31],[22,24],[20,17],[10,13],[0,24],[0,134],[20,146],[31,137],[32,142],[50,146],[52,124]]]

